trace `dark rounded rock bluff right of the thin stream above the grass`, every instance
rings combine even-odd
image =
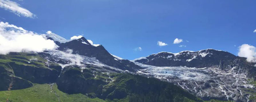
[[[57,80],[58,89],[68,94],[99,94],[100,92],[97,90],[101,91],[102,85],[107,83],[95,78],[91,71],[84,69],[83,72],[81,72],[81,70],[82,69],[76,65],[65,67]]]

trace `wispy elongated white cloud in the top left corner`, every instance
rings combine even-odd
[[[18,16],[36,18],[35,14],[31,13],[25,8],[20,7],[20,4],[10,0],[0,0],[0,8],[4,8],[5,10],[13,12]]]

